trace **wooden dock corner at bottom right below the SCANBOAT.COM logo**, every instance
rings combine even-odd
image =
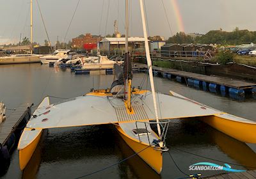
[[[256,178],[256,170],[245,171],[241,173],[227,173],[205,177],[207,179],[255,179]]]

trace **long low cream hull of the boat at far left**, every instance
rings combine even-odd
[[[0,58],[0,65],[17,63],[39,63],[42,55],[37,54],[15,54]]]

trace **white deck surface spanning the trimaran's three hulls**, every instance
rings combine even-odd
[[[255,121],[225,114],[180,95],[175,97],[176,94],[174,93],[173,95],[159,93],[156,95],[159,98],[157,108],[160,112],[160,120],[216,115],[227,120],[256,124]],[[134,95],[132,97],[132,106],[134,106],[134,111],[138,114],[127,114],[124,101],[115,97],[85,96],[72,98],[57,104],[49,104],[49,98],[45,98],[34,113],[37,116],[35,118],[31,117],[27,124],[28,128],[36,128],[36,130],[24,130],[24,134],[20,137],[19,148],[28,145],[35,139],[38,132],[44,128],[76,127],[108,123],[119,123],[129,136],[134,136],[134,138],[138,139],[138,136],[135,136],[132,132],[132,129],[136,128],[134,121],[155,119],[152,93],[148,92],[146,98],[140,97],[140,95]],[[143,124],[140,123],[138,128],[144,128],[143,126],[140,127],[140,125]],[[150,142],[152,142],[153,139],[156,139],[156,136],[154,136],[154,132],[150,132]],[[147,135],[141,136],[141,141],[147,143]]]

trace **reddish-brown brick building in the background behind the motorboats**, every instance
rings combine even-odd
[[[94,44],[93,47],[95,45],[97,47],[97,43],[99,43],[100,40],[102,40],[101,36],[86,33],[83,37],[72,38],[72,47],[75,49],[84,49],[84,47],[88,47],[88,44]]]

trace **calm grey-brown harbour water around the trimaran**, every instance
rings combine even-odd
[[[145,74],[134,74],[133,85],[141,86],[144,77]],[[33,102],[36,105],[46,95],[71,98],[83,95],[93,87],[108,88],[113,81],[113,75],[74,75],[69,69],[56,72],[54,68],[40,64],[3,65],[0,66],[0,81],[0,100],[11,109],[24,102]],[[187,88],[168,79],[155,78],[155,82],[157,91],[162,93],[172,90],[216,109],[256,121],[255,100],[237,102],[220,95]],[[143,86],[147,88],[147,81]],[[60,99],[52,98],[52,102],[58,100]],[[256,169],[254,144],[241,143],[200,121],[172,120],[166,143],[170,145],[170,153],[177,165],[188,174],[197,173],[188,170],[189,166],[196,162],[214,162],[221,166],[224,163],[231,163],[230,166],[234,169],[252,169],[252,167]],[[132,153],[129,146],[116,134],[112,125],[45,130],[24,172],[19,169],[19,155],[16,150],[12,154],[8,173],[3,178],[77,178],[114,164]],[[217,173],[220,171],[202,172],[204,176]],[[184,176],[173,164],[170,155],[164,153],[161,176],[156,175],[139,157],[133,157],[88,178],[182,178]]]

